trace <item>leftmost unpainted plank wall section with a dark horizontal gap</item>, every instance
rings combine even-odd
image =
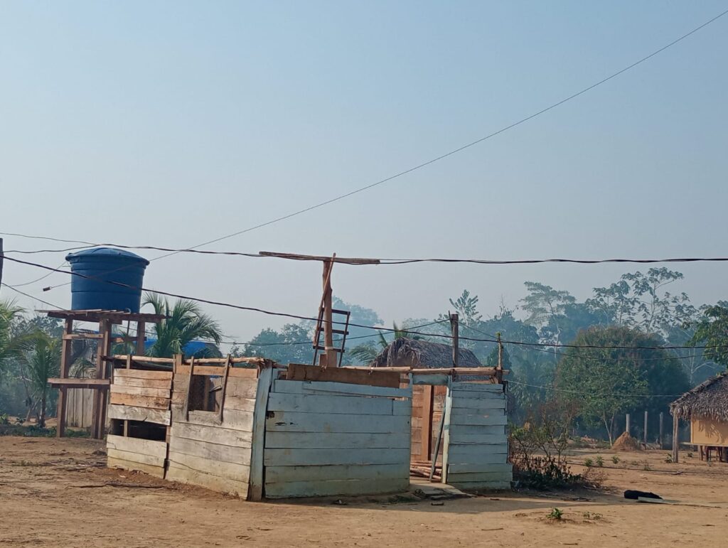
[[[140,369],[116,369],[110,386],[108,418],[168,426],[172,373]],[[137,423],[138,424],[138,423]],[[124,428],[129,435],[109,434],[106,438],[107,465],[141,470],[165,477],[167,442],[134,437],[135,428]]]

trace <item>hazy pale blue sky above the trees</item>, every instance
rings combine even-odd
[[[724,1],[0,3],[0,231],[187,247],[343,194],[633,63]],[[208,246],[375,257],[727,255],[728,16],[467,151]],[[65,247],[5,238],[6,249]],[[145,252],[147,258],[162,253]],[[17,255],[20,257],[20,255]],[[58,266],[63,253],[31,255]],[[636,266],[336,266],[387,323],[464,287],[584,298]],[[681,265],[696,303],[728,264]],[[6,263],[4,281],[43,271]],[[54,274],[21,287],[60,306]],[[314,315],[320,264],[175,255],[146,285]],[[2,295],[12,296],[3,288]],[[20,298],[26,306],[42,306]],[[208,307],[229,336],[277,319]]]

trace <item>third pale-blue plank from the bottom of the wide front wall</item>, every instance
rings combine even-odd
[[[266,466],[323,464],[400,464],[409,462],[408,449],[266,449]]]

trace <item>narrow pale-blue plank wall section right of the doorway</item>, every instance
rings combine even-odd
[[[448,415],[443,481],[461,489],[510,488],[503,385],[451,383]]]

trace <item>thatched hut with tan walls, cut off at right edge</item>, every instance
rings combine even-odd
[[[716,453],[728,461],[728,373],[709,378],[670,404],[673,419],[690,422],[690,442],[698,446],[700,459]],[[677,447],[673,429],[673,453]]]

